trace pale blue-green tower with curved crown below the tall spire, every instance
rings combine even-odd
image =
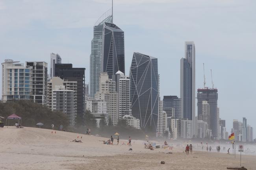
[[[93,27],[93,39],[91,40],[90,55],[90,96],[94,97],[100,88],[101,56],[102,56],[102,31],[105,22],[113,23],[113,15],[108,10],[97,20]]]

